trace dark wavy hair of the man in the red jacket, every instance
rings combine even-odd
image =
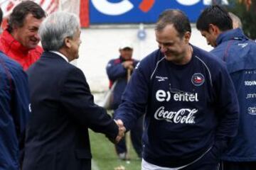
[[[11,33],[14,26],[22,27],[24,20],[29,13],[31,13],[33,17],[37,19],[46,17],[46,13],[43,11],[41,6],[33,1],[22,1],[20,4],[14,7],[8,21],[7,30]]]

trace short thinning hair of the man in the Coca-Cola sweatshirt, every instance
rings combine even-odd
[[[182,38],[187,31],[191,33],[191,24],[188,17],[178,9],[166,9],[162,12],[156,22],[155,30],[163,30],[169,24],[174,25],[180,38]]]

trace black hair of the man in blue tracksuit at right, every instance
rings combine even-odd
[[[221,6],[208,6],[203,10],[196,22],[196,28],[198,30],[209,30],[209,24],[218,26],[221,31],[233,29],[232,19]]]

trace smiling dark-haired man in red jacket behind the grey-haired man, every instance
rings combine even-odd
[[[38,46],[38,28],[45,17],[41,6],[33,1],[23,1],[14,8],[8,26],[1,34],[0,50],[21,64],[24,70],[43,52]]]

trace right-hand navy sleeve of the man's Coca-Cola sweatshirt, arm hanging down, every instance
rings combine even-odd
[[[213,84],[214,87],[216,94],[215,112],[218,114],[219,123],[213,147],[216,147],[221,153],[227,147],[230,138],[238,132],[239,104],[233,82],[225,67],[217,75],[215,84]]]

